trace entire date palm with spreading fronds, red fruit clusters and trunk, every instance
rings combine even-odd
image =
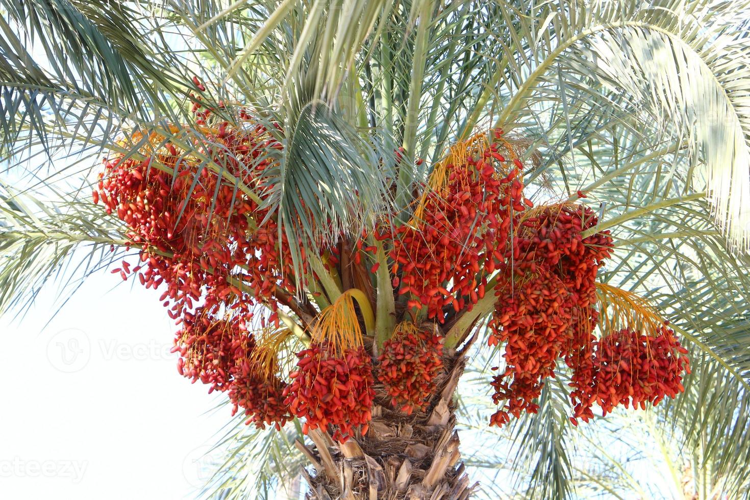
[[[461,498],[476,407],[529,498],[617,494],[574,456],[619,413],[568,418],[620,403],[746,494],[748,7],[5,0],[0,310],[123,258],[160,287],[180,373],[278,429],[220,498],[289,457],[314,498]]]

